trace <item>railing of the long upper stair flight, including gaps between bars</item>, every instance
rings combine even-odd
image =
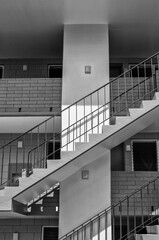
[[[33,167],[46,167],[50,140],[65,139],[56,151],[74,150],[75,142],[88,141],[89,134],[100,133],[102,125],[109,124],[113,116],[127,115],[129,107],[139,107],[143,99],[152,99],[157,91],[158,69],[159,53],[156,53],[63,109],[57,116],[0,147],[0,184],[16,185],[22,169],[22,172],[26,169],[31,172]],[[55,134],[58,116],[63,115],[67,116],[67,126]],[[23,143],[22,148],[18,147],[19,141]]]

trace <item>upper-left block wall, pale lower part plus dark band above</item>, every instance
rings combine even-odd
[[[48,66],[62,65],[61,58],[0,59],[0,65],[0,112],[60,112],[62,81],[48,79]]]

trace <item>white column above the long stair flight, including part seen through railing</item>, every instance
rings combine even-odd
[[[85,72],[88,67],[90,73]],[[63,83],[62,109],[83,98],[87,94],[103,86],[109,81],[109,44],[107,24],[68,24],[64,26],[64,55],[63,55]],[[102,89],[85,102],[62,114],[62,129],[81,119],[84,115],[104,102],[104,91],[109,99],[109,91]],[[91,104],[92,103],[92,104]],[[85,108],[83,105],[85,104]],[[102,114],[101,116],[102,117]],[[100,119],[101,120],[101,119]],[[97,122],[94,119],[94,125]],[[102,120],[101,120],[102,121]],[[79,123],[80,124],[80,123]],[[90,122],[84,128],[89,129]],[[95,130],[95,129],[94,129]],[[77,132],[70,134],[75,137]],[[81,141],[85,141],[84,136]],[[63,138],[63,144],[67,139]],[[78,140],[77,140],[78,141]],[[67,149],[68,150],[68,149]],[[70,150],[72,150],[70,148]]]

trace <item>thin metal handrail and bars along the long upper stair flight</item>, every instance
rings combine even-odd
[[[32,146],[31,147],[31,149],[29,149],[28,150],[28,152],[27,152],[27,155],[29,156],[30,155],[30,152],[34,152],[35,153],[35,150],[37,149],[37,150],[39,150],[40,149],[40,147],[42,146],[42,145],[44,145],[44,143],[45,144],[47,144],[48,143],[48,141],[50,140],[50,137],[48,137],[47,136],[47,131],[45,131],[45,133],[44,133],[44,135],[46,135],[46,136],[44,136],[43,137],[43,139],[45,139],[44,141],[42,141],[42,142],[40,142],[40,139],[39,139],[39,135],[40,135],[40,132],[39,132],[39,129],[40,129],[40,127],[46,127],[47,128],[47,124],[48,124],[48,122],[49,121],[53,121],[53,124],[54,124],[54,119],[55,119],[55,117],[56,116],[60,116],[60,115],[62,115],[64,112],[68,112],[68,118],[70,118],[70,112],[71,112],[71,107],[74,107],[75,106],[75,108],[76,108],[76,119],[75,119],[75,121],[72,123],[70,123],[69,121],[70,121],[70,119],[68,119],[68,125],[65,127],[65,129],[63,129],[62,130],[62,133],[64,133],[63,134],[63,136],[62,137],[65,137],[66,135],[68,136],[68,139],[67,139],[67,141],[66,141],[66,143],[65,144],[63,144],[63,146],[62,146],[62,148],[65,146],[66,148],[68,148],[69,147],[69,144],[73,144],[73,150],[74,150],[74,142],[75,142],[75,140],[78,140],[78,138],[80,138],[81,136],[82,137],[84,137],[84,140],[86,140],[87,141],[87,139],[88,139],[88,136],[87,136],[87,134],[86,134],[86,137],[85,137],[85,133],[88,133],[88,129],[87,129],[87,122],[88,122],[88,120],[90,120],[90,122],[91,122],[91,125],[93,126],[91,129],[89,129],[89,130],[93,130],[94,131],[94,128],[95,127],[99,127],[99,125],[101,125],[101,123],[103,124],[103,123],[105,123],[105,121],[106,120],[108,120],[108,119],[110,119],[112,116],[115,116],[115,115],[117,115],[117,114],[119,114],[121,111],[123,111],[123,110],[127,110],[127,108],[128,108],[128,106],[130,106],[130,105],[132,105],[132,104],[135,104],[137,101],[135,100],[135,99],[133,99],[133,101],[131,102],[131,104],[128,104],[128,102],[127,102],[127,95],[130,93],[130,92],[134,92],[134,91],[136,91],[136,88],[138,87],[138,92],[139,92],[139,95],[140,95],[140,86],[142,85],[142,84],[145,84],[145,89],[146,89],[146,93],[148,92],[148,94],[144,94],[144,96],[142,96],[142,98],[141,97],[139,97],[138,98],[138,101],[139,100],[141,100],[141,99],[144,99],[143,97],[145,97],[145,96],[148,96],[149,94],[151,94],[151,93],[153,93],[154,91],[156,91],[156,88],[155,88],[155,84],[153,83],[153,81],[151,81],[151,77],[153,76],[153,71],[152,71],[152,76],[150,77],[150,84],[152,84],[153,85],[153,87],[152,87],[152,91],[150,91],[150,90],[148,90],[147,88],[148,88],[148,84],[149,83],[146,83],[147,82],[147,80],[149,79],[147,79],[147,77],[146,77],[146,70],[145,70],[145,78],[144,78],[144,80],[140,80],[139,81],[139,79],[138,79],[138,83],[137,84],[133,84],[131,87],[128,87],[127,88],[127,86],[126,86],[126,80],[127,80],[127,75],[129,75],[129,77],[130,78],[132,78],[132,71],[134,70],[134,69],[138,69],[140,66],[144,66],[144,68],[145,68],[145,64],[147,63],[147,62],[149,62],[150,61],[150,63],[151,63],[151,67],[153,68],[153,61],[155,61],[155,64],[157,63],[157,66],[159,66],[159,59],[158,59],[158,53],[156,53],[156,54],[154,54],[153,56],[151,56],[151,57],[149,57],[149,58],[147,58],[146,60],[144,60],[144,61],[142,61],[141,63],[139,63],[139,64],[137,64],[136,66],[134,66],[132,69],[129,69],[128,71],[126,71],[126,72],[124,72],[123,74],[121,74],[121,75],[119,75],[118,77],[116,77],[115,79],[113,79],[113,80],[111,80],[109,83],[106,83],[106,84],[104,84],[102,87],[100,87],[100,88],[98,88],[97,90],[95,90],[95,91],[93,91],[92,93],[90,93],[90,94],[88,94],[88,95],[86,95],[85,97],[83,97],[83,98],[81,98],[80,100],[78,100],[78,101],[76,101],[74,104],[71,104],[70,106],[68,106],[67,108],[65,108],[65,109],[63,109],[62,111],[61,111],[61,113],[60,114],[58,114],[58,115],[55,115],[55,116],[52,116],[52,117],[50,117],[50,118],[48,118],[48,119],[46,119],[45,121],[43,121],[42,123],[40,123],[40,124],[38,124],[38,125],[36,125],[35,127],[33,127],[33,128],[31,128],[29,131],[27,131],[27,132],[25,132],[25,133],[23,133],[23,134],[21,134],[20,136],[18,136],[17,138],[15,138],[14,140],[12,140],[12,141],[10,141],[10,142],[8,142],[7,144],[5,144],[5,145],[3,145],[2,147],[0,147],[0,151],[1,151],[1,155],[2,155],[2,166],[1,166],[1,185],[5,185],[7,182],[10,182],[10,180],[11,180],[11,178],[9,179],[9,180],[3,180],[3,164],[4,164],[4,158],[5,158],[5,149],[7,149],[7,148],[9,148],[9,150],[7,150],[6,152],[7,152],[7,154],[8,154],[8,151],[9,151],[9,164],[11,163],[11,155],[12,155],[12,148],[14,148],[14,144],[16,144],[16,142],[20,139],[24,139],[24,141],[25,141],[25,138],[27,137],[27,135],[31,135],[31,140],[30,141],[32,141],[32,135],[34,134],[34,131],[36,130],[37,131],[37,143],[36,143],[36,147],[34,147],[34,146]],[[138,71],[139,72],[139,71]],[[122,92],[122,93],[120,93],[120,89],[118,88],[118,91],[119,91],[119,93],[114,97],[113,96],[113,98],[112,98],[112,96],[111,96],[111,99],[110,100],[106,100],[106,91],[109,89],[110,90],[110,93],[111,93],[111,95],[113,94],[113,92],[112,92],[112,87],[113,87],[113,84],[118,84],[119,83],[119,79],[121,79],[123,77],[123,79],[124,79],[124,84],[125,84],[125,89],[124,89],[124,91]],[[138,76],[138,78],[139,78],[140,76]],[[149,81],[149,80],[148,80]],[[108,88],[108,89],[107,89]],[[103,93],[103,102],[102,103],[100,103],[99,102],[99,96],[101,97],[101,92],[100,91],[104,91],[104,93]],[[97,108],[95,108],[95,110],[92,108],[92,97],[94,96],[94,95],[97,95]],[[113,112],[113,113],[111,113],[111,117],[108,117],[108,118],[106,118],[106,117],[104,117],[104,114],[105,114],[105,108],[107,107],[107,106],[111,106],[111,105],[114,105],[114,103],[116,102],[116,101],[118,101],[118,102],[120,102],[121,100],[120,100],[120,98],[122,99],[122,98],[124,98],[125,97],[125,102],[124,102],[124,107],[122,106],[121,108],[120,108],[120,110],[119,111],[116,111],[115,113]],[[88,113],[88,114],[84,114],[84,117],[83,116],[81,116],[80,118],[77,118],[77,107],[78,107],[78,104],[79,103],[83,103],[83,111],[85,112],[85,105],[86,105],[86,101],[88,101],[88,99],[90,100],[90,104],[91,104],[91,112],[90,113]],[[122,104],[121,104],[122,105]],[[103,110],[102,110],[102,108],[103,108]],[[101,114],[103,114],[103,120],[99,123],[99,116],[101,115]],[[92,121],[92,119],[95,119],[97,117],[97,125],[93,125],[94,123],[93,123],[93,121]],[[90,119],[89,119],[90,118]],[[77,136],[77,128],[79,129],[79,131],[81,130],[81,128],[82,127],[86,127],[86,129],[84,129],[84,132],[81,132],[81,135],[80,136]],[[92,133],[93,133],[93,131],[92,131]],[[71,134],[75,134],[75,136],[72,138],[71,137]],[[58,134],[59,135],[59,134]],[[55,137],[56,137],[57,135],[56,134],[54,134],[54,136],[52,137],[52,139],[55,139]],[[13,146],[12,146],[13,145]],[[24,144],[24,146],[25,146],[25,144]],[[68,150],[68,149],[66,149],[66,150]],[[47,158],[47,153],[46,153],[46,148],[45,149],[41,149],[41,151],[42,151],[42,153],[43,153],[43,155],[44,155],[44,157],[41,157],[41,159],[42,160],[44,160],[44,159],[46,159]],[[18,150],[16,150],[16,165],[17,165],[17,163],[18,163],[18,154],[19,154],[19,151]],[[45,167],[45,163],[43,163],[40,159],[39,159],[39,154],[40,154],[40,152],[38,151],[38,154],[37,154],[37,156],[35,157],[35,158],[37,158],[37,160],[36,160],[36,163],[37,164],[40,164],[40,167]],[[25,151],[24,151],[24,154],[23,155],[26,155],[25,154]],[[36,153],[35,153],[35,155],[36,155]],[[28,158],[28,156],[27,156],[27,158]],[[23,156],[24,158],[26,158],[26,156]],[[29,160],[30,161],[30,160]],[[23,164],[24,165],[24,169],[26,168],[26,163],[28,164],[28,162],[26,162],[25,161],[25,164]],[[29,164],[28,164],[29,165]],[[34,163],[32,163],[32,165],[34,165],[34,167],[35,167],[35,165],[36,164],[34,164]],[[39,165],[38,165],[38,167],[39,167]],[[27,167],[28,169],[29,169],[29,166]],[[17,166],[16,166],[16,171],[17,171]]]

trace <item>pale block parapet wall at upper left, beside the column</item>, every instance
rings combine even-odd
[[[0,112],[61,111],[62,79],[6,78],[0,80]]]

